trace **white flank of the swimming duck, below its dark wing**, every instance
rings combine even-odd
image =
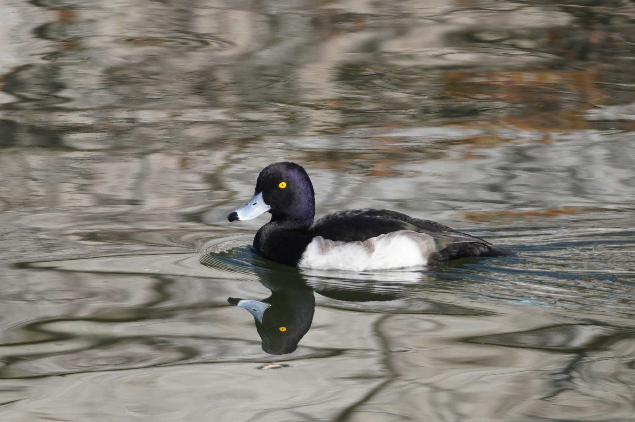
[[[299,266],[316,270],[366,271],[425,265],[434,252],[434,239],[424,233],[399,230],[363,242],[330,241],[315,237]]]

